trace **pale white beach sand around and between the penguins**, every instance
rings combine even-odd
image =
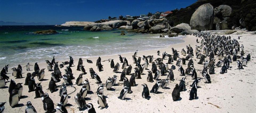
[[[89,60],[93,61],[93,64],[89,64],[86,62],[86,58],[83,58],[83,64],[85,66],[85,69],[87,70],[87,74],[83,75],[83,80],[85,78],[89,79],[91,91],[93,91],[93,94],[87,95],[86,103],[92,103],[94,105],[94,108],[96,112],[253,112],[256,110],[256,83],[255,83],[255,49],[256,46],[256,35],[251,35],[248,32],[242,33],[245,31],[238,31],[234,34],[231,34],[231,38],[238,39],[238,36],[242,36],[239,41],[240,45],[243,44],[245,47],[245,55],[248,53],[251,54],[251,61],[248,62],[247,67],[244,67],[243,70],[237,70],[237,63],[232,62],[230,65],[233,66],[232,70],[228,70],[228,73],[225,74],[219,74],[219,71],[221,70],[221,67],[215,68],[215,74],[210,75],[211,76],[211,82],[210,84],[205,84],[205,80],[201,80],[201,82],[198,84],[201,88],[198,88],[198,98],[196,100],[189,100],[189,92],[191,87],[189,86],[192,84],[194,80],[191,79],[191,77],[186,78],[186,88],[187,90],[184,92],[181,92],[181,100],[179,101],[173,101],[171,97],[171,93],[173,91],[173,88],[175,87],[175,84],[179,84],[179,80],[183,76],[179,76],[180,72],[177,69],[175,69],[174,72],[174,82],[169,82],[167,85],[167,89],[160,88],[158,91],[158,94],[150,93],[150,100],[146,100],[142,98],[141,93],[143,90],[143,86],[141,84],[146,83],[151,90],[153,85],[155,84],[156,80],[154,80],[154,83],[147,82],[147,70],[144,71],[145,75],[141,75],[142,79],[136,79],[136,84],[138,84],[136,87],[132,87],[131,90],[133,91],[132,94],[127,94],[126,98],[129,98],[129,100],[120,100],[118,99],[119,93],[121,92],[123,85],[122,82],[119,82],[121,73],[114,73],[113,69],[110,68],[110,62],[102,62],[104,71],[99,72],[97,70],[97,67],[95,65],[96,60],[98,57],[90,57],[87,58]],[[187,35],[186,38],[183,38],[185,40],[184,43],[174,44],[164,49],[157,49],[161,52],[166,51],[167,53],[172,53],[171,48],[177,49],[177,51],[181,51],[182,48],[186,49],[186,45],[190,44],[193,49],[195,49],[196,43],[196,37]],[[201,39],[199,39],[201,40]],[[137,46],[137,45],[136,45]],[[142,55],[154,55],[155,58],[161,57],[157,56],[157,50],[149,50],[149,51],[139,51],[137,56]],[[135,50],[134,50],[135,51]],[[135,64],[133,64],[132,55],[134,53],[125,53],[121,54],[122,57],[126,57],[128,60],[128,63],[135,67]],[[82,57],[82,56],[81,56]],[[180,56],[180,57],[186,57],[186,56]],[[216,58],[216,56],[214,56]],[[118,55],[110,55],[110,56],[101,56],[102,61],[107,59],[114,59],[115,64],[119,61]],[[138,58],[138,57],[137,57]],[[55,58],[56,61],[58,61],[58,58]],[[199,59],[194,59],[194,66],[197,71],[198,76],[201,76],[201,71],[203,69],[203,65],[197,64]],[[209,61],[209,57],[206,58]],[[51,59],[45,59],[45,60],[51,60]],[[69,58],[67,57],[67,60],[69,61]],[[216,60],[216,63],[219,60]],[[144,62],[144,61],[142,61]],[[167,62],[167,60],[163,61],[164,63]],[[31,62],[32,63],[32,62]],[[78,75],[81,73],[80,71],[76,70],[76,66],[78,63],[78,59],[75,59],[75,66],[71,67],[73,70],[73,74],[75,78],[78,77]],[[186,61],[186,64],[188,61]],[[216,64],[215,63],[215,64]],[[25,64],[25,62],[24,62]],[[122,63],[120,63],[122,65]],[[174,61],[174,64],[176,64],[176,61]],[[4,66],[5,64],[2,64]],[[169,67],[171,65],[169,64]],[[187,68],[187,65],[182,65],[184,69]],[[23,66],[22,66],[23,67]],[[46,68],[46,63],[40,63],[40,68]],[[107,91],[106,87],[104,87],[104,95],[107,96],[107,104],[108,107],[105,109],[98,108],[98,97],[95,93],[98,88],[98,84],[96,84],[96,80],[90,79],[89,75],[89,68],[92,67],[95,72],[100,76],[103,83],[106,82],[107,78],[113,75],[118,76],[117,83],[118,86],[113,86],[114,91]],[[31,66],[31,69],[33,67]],[[65,74],[64,71],[65,68],[60,69],[62,72],[62,75]],[[151,70],[151,64],[149,68]],[[26,69],[23,68],[23,76],[26,76],[26,74],[32,73],[33,71],[25,71]],[[121,72],[122,69],[120,67],[119,72]],[[9,68],[9,72],[11,72],[11,69]],[[53,100],[55,104],[55,108],[57,103],[60,101],[59,97],[59,91],[50,93],[49,90],[46,90],[48,88],[48,83],[50,81],[50,71],[45,72],[45,81],[42,81],[42,87],[43,91],[45,93],[48,93],[50,98]],[[132,73],[134,73],[134,69],[132,70]],[[11,76],[11,74],[8,74],[8,76]],[[130,75],[126,75],[126,77],[129,79]],[[167,78],[167,76],[160,76],[160,79]],[[10,79],[14,79],[16,83],[24,83],[25,78],[22,79],[15,79],[13,76],[10,77]],[[36,83],[39,83],[40,81],[35,78]],[[61,79],[61,82],[57,83],[57,85],[60,85],[63,82]],[[73,83],[75,84],[75,80],[73,80]],[[9,86],[10,83],[7,83],[7,86]],[[73,85],[76,88],[75,93],[70,94],[70,98],[68,100],[68,103],[71,104],[66,107],[66,109],[69,112],[87,112],[85,111],[79,111],[78,105],[74,101],[74,96],[76,93],[78,93],[81,89],[81,86],[77,86],[76,84]],[[33,106],[38,112],[44,112],[43,110],[43,103],[41,98],[34,99],[35,92],[28,93],[28,87],[26,85],[23,85],[23,95],[27,96],[25,98],[22,98],[19,101],[19,106],[15,108],[11,108],[9,106],[9,93],[8,88],[0,89],[0,102],[7,102],[5,104],[5,112],[25,112],[26,108],[26,102],[31,101]],[[73,92],[74,88],[67,88],[68,93]],[[22,106],[24,105],[24,106]],[[216,106],[214,106],[216,105]]]

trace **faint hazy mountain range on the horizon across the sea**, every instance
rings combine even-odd
[[[0,21],[0,25],[49,25],[45,22],[30,22],[30,23],[20,23],[20,22],[4,22]]]

